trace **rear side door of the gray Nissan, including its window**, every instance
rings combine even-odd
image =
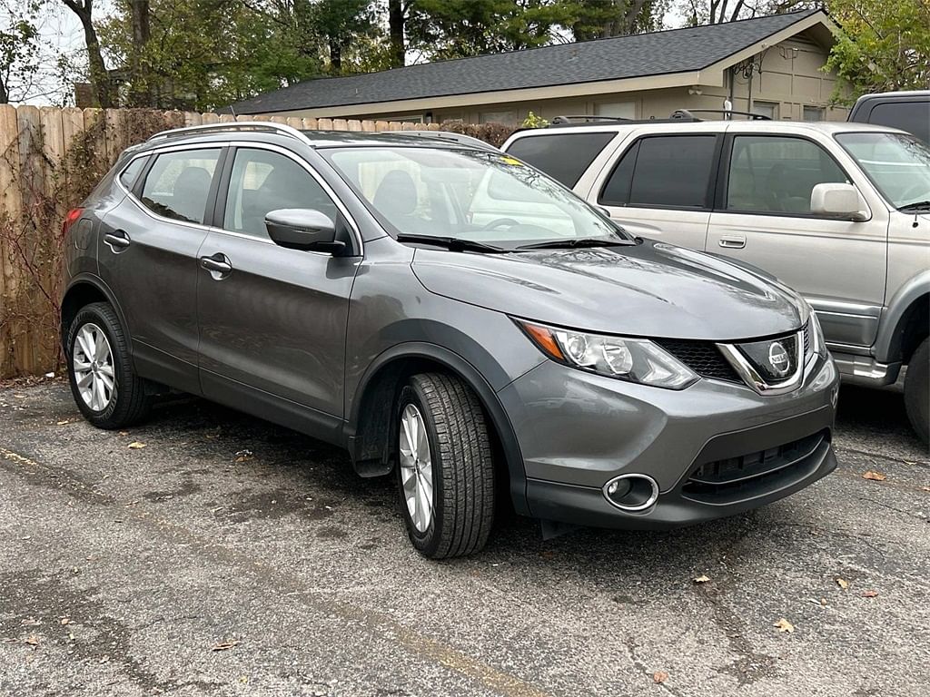
[[[199,392],[197,252],[221,153],[199,145],[143,158],[140,175],[120,179],[132,191],[99,236],[100,278],[126,317],[137,370],[190,392]]]

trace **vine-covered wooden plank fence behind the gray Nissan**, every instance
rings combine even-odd
[[[272,121],[299,129],[398,131],[388,121],[0,105],[0,379],[60,367],[60,230],[133,143],[168,127]]]

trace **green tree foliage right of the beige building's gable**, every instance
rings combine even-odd
[[[896,89],[930,88],[930,3],[927,0],[830,0],[842,27],[827,69],[841,85],[837,102]]]

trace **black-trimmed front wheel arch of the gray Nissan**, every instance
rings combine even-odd
[[[397,393],[410,375],[444,372],[456,375],[478,397],[492,429],[498,457],[506,467],[513,506],[528,515],[523,455],[510,419],[498,395],[472,363],[457,353],[429,343],[406,343],[388,349],[368,367],[354,390],[352,410],[343,429],[343,440],[352,456],[352,467],[362,477],[376,477],[392,470],[392,411]],[[365,414],[364,419],[362,414]]]

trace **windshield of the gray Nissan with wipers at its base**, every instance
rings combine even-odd
[[[516,248],[630,240],[551,178],[501,152],[419,147],[322,151],[395,233]]]

